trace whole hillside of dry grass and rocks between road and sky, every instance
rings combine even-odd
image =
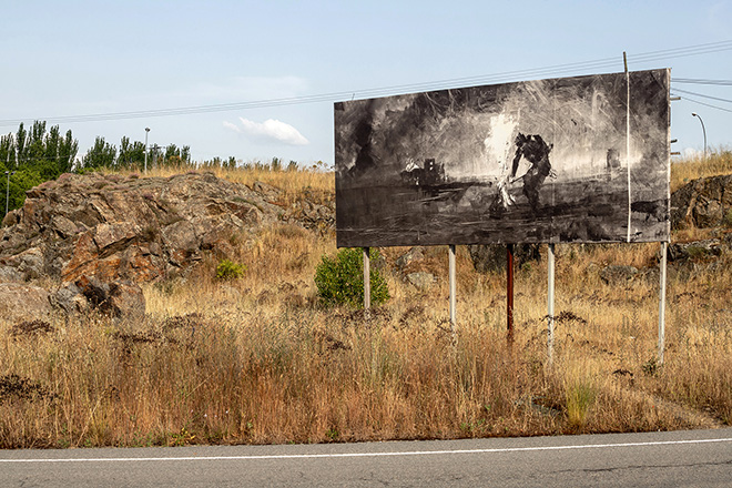
[[[675,164],[674,190],[699,186],[694,172],[732,174],[729,153],[710,160]],[[336,251],[332,174],[62,177],[33,190],[26,207],[6,217],[0,275],[28,299],[85,305],[0,323],[0,446],[730,425],[730,194],[720,194],[721,217],[701,227],[714,199],[703,189],[690,192],[689,205],[674,204],[687,210],[674,217],[664,365],[655,362],[659,245],[567,245],[558,250],[550,367],[543,254],[517,270],[511,348],[505,276],[476,272],[459,247],[453,342],[443,247],[383,250],[392,299],[370,317],[317,302],[315,267]],[[138,227],[125,223],[133,218]],[[224,260],[243,274],[217,278]],[[118,292],[124,286],[139,289],[138,308],[119,304],[109,314],[96,306],[134,296]],[[6,312],[22,306],[3,302]]]

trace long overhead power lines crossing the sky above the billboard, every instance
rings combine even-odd
[[[732,50],[732,40],[711,42],[705,44],[688,45],[683,48],[665,49],[660,51],[650,51],[636,55],[631,54],[628,55],[628,61],[629,63],[632,63],[634,68],[638,68],[639,64],[647,64],[667,59],[709,54],[709,53],[730,51],[730,50]],[[348,91],[322,93],[322,94],[304,95],[304,96],[289,96],[289,98],[281,98],[281,99],[255,100],[255,101],[221,103],[221,104],[211,104],[211,105],[182,106],[182,108],[173,108],[173,109],[94,113],[87,115],[6,119],[6,120],[0,120],[0,126],[18,125],[19,123],[29,120],[45,120],[52,123],[99,122],[99,121],[109,121],[109,120],[126,120],[126,119],[143,119],[143,118],[173,116],[173,115],[190,115],[196,113],[227,112],[234,110],[263,109],[263,108],[272,108],[272,106],[316,103],[316,102],[334,102],[338,100],[355,99],[356,95],[358,95],[359,99],[365,99],[365,98],[385,96],[385,95],[408,93],[416,91],[439,90],[449,87],[468,87],[468,85],[506,82],[517,79],[548,78],[548,77],[555,77],[566,73],[578,73],[578,72],[586,72],[589,70],[600,71],[612,68],[618,68],[618,71],[620,71],[619,57],[602,58],[598,60],[575,62],[575,63],[555,64],[550,67],[533,68],[527,70],[506,71],[501,73],[485,74],[477,77],[454,78],[454,79],[438,80],[438,81],[424,82],[424,83],[398,84],[392,87],[382,87],[382,88],[363,89],[363,90],[348,90]],[[689,80],[689,79],[682,79],[682,80]],[[689,81],[680,81],[680,82],[689,82]]]

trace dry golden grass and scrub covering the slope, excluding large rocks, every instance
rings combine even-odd
[[[732,173],[729,152],[672,166],[684,180]],[[333,173],[220,171],[296,199],[332,197]],[[329,196],[328,196],[329,195]],[[718,230],[728,232],[729,230]],[[673,240],[709,231],[674,233]],[[478,274],[458,246],[457,328],[446,247],[405,283],[384,248],[392,298],[369,314],[318,304],[313,282],[335,236],[293,224],[236,243],[246,266],[217,279],[212,257],[185,279],[145,285],[142,323],[102,316],[0,324],[0,447],[324,443],[732,425],[732,255],[670,266],[658,358],[659,244],[560,245],[553,362],[547,270],[516,271],[516,333],[505,274]],[[542,250],[543,251],[543,250]],[[645,270],[608,285],[609,264]],[[653,272],[655,270],[655,272]]]

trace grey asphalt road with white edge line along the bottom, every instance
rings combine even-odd
[[[732,428],[288,446],[0,451],[0,487],[731,487]]]

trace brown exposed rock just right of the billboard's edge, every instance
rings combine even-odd
[[[671,195],[672,228],[732,225],[732,174],[687,183]]]

